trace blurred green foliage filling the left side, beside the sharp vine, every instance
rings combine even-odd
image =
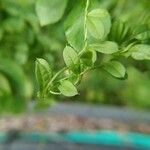
[[[34,61],[58,67],[64,33],[61,23],[40,27],[35,0],[0,1],[0,111],[20,112],[35,99]],[[4,80],[4,81],[3,81]],[[6,88],[8,87],[8,88]],[[49,103],[49,102],[48,102]]]

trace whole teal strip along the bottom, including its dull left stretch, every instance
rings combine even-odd
[[[7,141],[9,136],[0,133],[0,142]],[[80,144],[105,144],[114,146],[132,146],[150,149],[150,135],[135,132],[117,132],[111,130],[100,131],[72,131],[66,133],[21,133],[19,140],[29,142],[72,142]]]

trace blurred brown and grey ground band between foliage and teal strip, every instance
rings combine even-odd
[[[115,129],[150,133],[150,112],[117,107],[57,104],[37,113],[0,117],[0,131],[14,129],[42,132]]]

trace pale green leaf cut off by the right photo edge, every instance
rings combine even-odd
[[[132,58],[136,60],[150,60],[150,46],[146,44],[137,44],[130,49]]]

